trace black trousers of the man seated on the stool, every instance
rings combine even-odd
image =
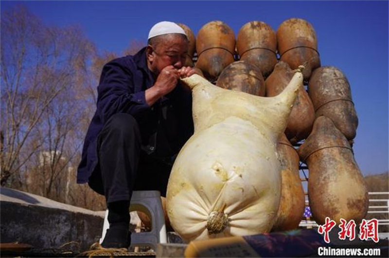
[[[141,134],[133,116],[112,115],[97,138],[99,162],[88,184],[106,202],[130,200],[134,190],[159,190],[166,196],[171,165],[141,150]]]

